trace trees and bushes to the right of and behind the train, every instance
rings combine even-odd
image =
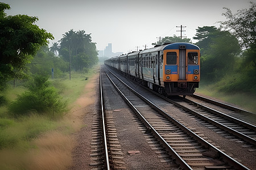
[[[201,82],[213,84],[219,91],[251,92],[256,94],[256,3],[249,9],[223,14],[220,27],[204,26],[196,29],[193,39],[201,49]],[[164,37],[162,42],[191,42],[177,36]]]

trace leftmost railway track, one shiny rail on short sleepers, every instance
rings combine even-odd
[[[90,166],[92,169],[126,169],[112,113],[105,110],[102,84],[100,71],[100,108],[93,115]]]

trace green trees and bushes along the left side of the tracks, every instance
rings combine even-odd
[[[13,116],[63,115],[67,101],[48,79],[52,71],[55,78],[64,78],[71,71],[87,71],[98,62],[96,43],[84,30],[71,29],[48,48],[48,39],[54,37],[35,24],[37,17],[8,16],[5,10],[10,10],[10,5],[0,2],[0,107],[8,108]],[[22,81],[26,91],[8,101],[5,92],[17,81]]]

